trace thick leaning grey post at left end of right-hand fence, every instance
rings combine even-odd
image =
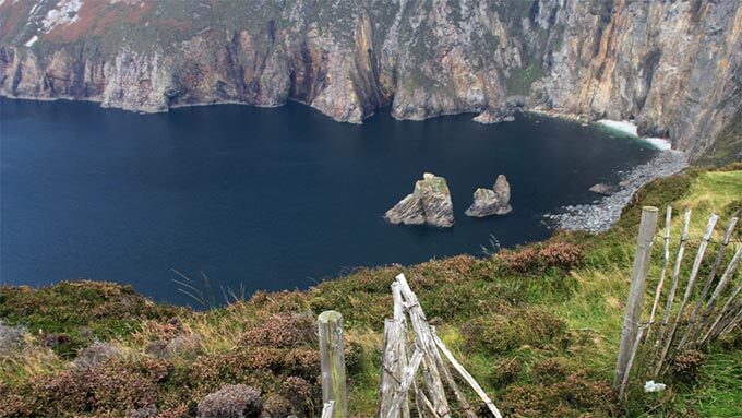
[[[642,320],[642,302],[644,291],[647,286],[647,272],[649,270],[649,255],[651,254],[651,243],[657,230],[657,207],[644,206],[642,208],[642,220],[639,223],[639,234],[636,240],[636,253],[631,272],[631,285],[629,287],[629,298],[626,299],[626,313],[623,318],[623,331],[621,332],[621,345],[619,346],[619,358],[615,363],[615,379],[613,385],[618,387],[623,382],[631,351],[638,333],[639,321]]]

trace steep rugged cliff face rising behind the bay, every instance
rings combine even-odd
[[[741,34],[737,0],[0,0],[0,94],[297,99],[349,122],[387,105],[488,120],[517,96],[698,155],[742,103]]]

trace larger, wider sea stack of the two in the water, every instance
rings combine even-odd
[[[422,180],[415,183],[412,193],[386,211],[384,218],[395,225],[428,224],[439,228],[453,226],[454,205],[448,184],[443,177],[423,174]]]

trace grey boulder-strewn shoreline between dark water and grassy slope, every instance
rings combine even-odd
[[[547,214],[544,217],[560,229],[602,232],[619,220],[623,208],[644,184],[672,176],[687,166],[687,156],[684,153],[658,153],[649,162],[625,174],[614,193],[590,204],[564,206],[561,213]]]

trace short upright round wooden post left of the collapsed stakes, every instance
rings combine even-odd
[[[343,344],[343,315],[324,311],[318,318],[320,330],[320,362],[322,366],[322,402],[334,401],[333,418],[348,417],[348,398],[345,387],[345,346]]]

